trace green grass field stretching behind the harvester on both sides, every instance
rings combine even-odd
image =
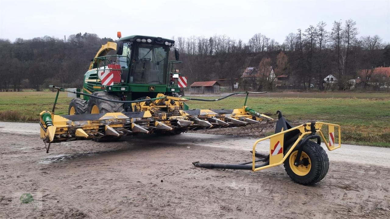
[[[287,120],[295,123],[320,120],[340,124],[344,143],[390,147],[390,98],[385,98],[388,94],[371,94],[377,96],[373,99],[364,99],[364,93],[355,98],[316,95],[316,98],[250,97],[247,106],[274,118],[276,111],[281,110]],[[36,122],[42,110],[51,110],[54,98],[55,92],[0,93],[0,120]],[[60,93],[57,114],[67,113],[70,99],[66,93]],[[216,102],[189,101],[188,105],[191,109],[229,109],[242,107],[244,100],[244,97],[229,97]]]

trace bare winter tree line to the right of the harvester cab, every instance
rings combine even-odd
[[[273,66],[275,74],[287,74],[294,88],[309,90],[317,84],[325,90],[323,79],[332,74],[337,78],[336,88],[347,90],[350,79],[360,69],[369,69],[370,78],[376,67],[390,66],[390,44],[378,35],[358,37],[356,22],[352,19],[334,21],[331,26],[320,21],[295,33],[289,33],[279,43],[261,33],[248,42],[227,35],[212,37],[176,37],[176,46],[183,58],[183,71],[190,81],[219,78],[239,78],[246,67],[264,69]],[[271,90],[274,81],[259,78],[256,90]],[[367,80],[364,85],[366,88]]]

